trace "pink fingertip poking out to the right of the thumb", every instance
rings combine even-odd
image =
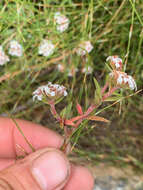
[[[83,166],[74,166],[71,168],[71,177],[64,190],[92,190],[94,178],[90,171]]]

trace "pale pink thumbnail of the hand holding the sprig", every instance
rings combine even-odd
[[[68,176],[69,163],[60,152],[46,152],[32,163],[31,172],[42,190],[53,190]]]

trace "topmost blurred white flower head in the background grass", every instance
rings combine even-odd
[[[56,12],[55,15],[54,15],[54,19],[56,21],[56,24],[57,24],[57,30],[59,32],[64,32],[65,30],[68,29],[69,27],[69,19],[61,14],[60,12]]]

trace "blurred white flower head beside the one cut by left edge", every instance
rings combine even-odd
[[[17,57],[22,56],[23,48],[16,40],[10,42],[9,54]]]

